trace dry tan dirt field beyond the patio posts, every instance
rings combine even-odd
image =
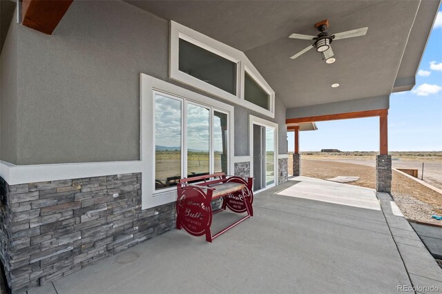
[[[361,164],[361,159],[313,159],[309,155],[302,155],[301,175],[307,177],[316,177],[318,179],[327,179],[337,176],[359,177],[358,181],[349,183],[355,186],[366,188],[376,188],[376,170],[374,164]],[[340,161],[338,161],[340,160]],[[345,162],[343,162],[345,160]],[[355,160],[358,164],[350,163]],[[365,159],[367,160],[367,159]],[[291,157],[289,157],[289,170],[291,170]],[[428,161],[428,163],[430,163]],[[436,163],[437,166],[437,163]],[[434,168],[434,173],[440,176],[440,170]],[[425,170],[424,170],[425,179]],[[438,182],[438,181],[436,181]],[[441,184],[441,182],[438,182]],[[427,188],[405,177],[399,173],[393,172],[392,175],[392,195],[396,204],[401,208],[402,213],[408,219],[420,221],[432,221],[431,215],[434,213],[442,215],[442,195],[434,190]]]

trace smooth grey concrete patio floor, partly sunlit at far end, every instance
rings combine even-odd
[[[418,263],[421,285],[442,291],[418,241],[398,250],[374,190],[295,177],[256,194],[253,209],[212,244],[174,230],[28,293],[398,293],[412,286],[401,254]],[[213,233],[237,218],[218,213]]]

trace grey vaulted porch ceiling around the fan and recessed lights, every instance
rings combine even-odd
[[[287,108],[410,89],[439,7],[439,0],[127,2],[242,50]],[[335,63],[316,50],[289,59],[311,43],[289,35],[317,35],[314,23],[323,19],[330,33],[368,32],[334,41]]]

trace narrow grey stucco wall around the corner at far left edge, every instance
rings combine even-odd
[[[13,25],[0,56],[0,159],[17,161],[17,26]]]

